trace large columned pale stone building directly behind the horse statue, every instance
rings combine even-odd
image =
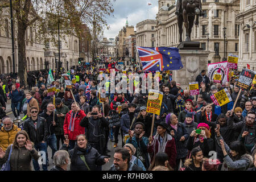
[[[159,6],[162,6],[159,0]],[[170,1],[171,2],[171,1]],[[171,5],[171,3],[170,3]],[[201,43],[201,47],[209,50],[208,63],[213,60],[215,47],[218,47],[220,61],[229,53],[238,55],[238,28],[236,15],[240,10],[240,0],[202,0],[205,13],[200,17],[199,26],[193,26],[191,40]],[[156,46],[176,47],[179,45],[179,28],[177,26],[176,6],[162,6],[156,15]],[[224,28],[225,33],[224,33]],[[185,27],[183,26],[183,40]],[[224,54],[225,35],[225,54]]]

